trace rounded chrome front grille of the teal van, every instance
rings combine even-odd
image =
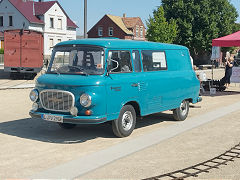
[[[68,91],[44,90],[40,93],[40,101],[46,110],[69,112],[74,106],[74,95]]]

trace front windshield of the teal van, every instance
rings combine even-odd
[[[104,50],[91,46],[60,46],[53,50],[47,73],[101,75]]]

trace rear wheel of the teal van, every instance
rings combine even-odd
[[[180,107],[173,110],[173,117],[176,121],[184,121],[189,112],[189,102],[187,100],[183,100],[180,104]]]

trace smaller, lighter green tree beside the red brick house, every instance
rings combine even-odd
[[[172,43],[177,36],[177,25],[173,19],[169,23],[164,17],[163,7],[153,11],[153,17],[147,21],[147,39],[154,42]]]

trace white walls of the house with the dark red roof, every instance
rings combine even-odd
[[[59,41],[68,41],[76,39],[76,29],[67,28],[67,17],[62,9],[55,3],[43,16],[44,24],[29,23],[29,21],[8,1],[2,0],[0,3],[0,16],[3,16],[4,26],[0,27],[0,31],[11,29],[25,29],[43,32],[44,35],[44,55],[51,55],[50,39],[53,39],[53,45]],[[13,26],[9,26],[9,16],[13,16]],[[50,18],[54,19],[54,27],[50,27]],[[58,19],[62,19],[62,28],[58,28]]]

